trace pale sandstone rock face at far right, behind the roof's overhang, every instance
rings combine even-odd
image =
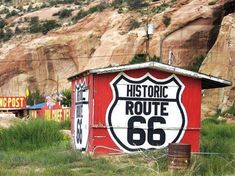
[[[206,90],[202,99],[202,117],[213,115],[235,105],[235,13],[221,24],[215,45],[209,51],[200,71],[232,81],[232,86]]]

